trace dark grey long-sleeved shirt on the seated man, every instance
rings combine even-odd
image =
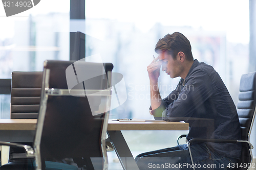
[[[152,111],[165,121],[189,123],[187,140],[192,138],[241,139],[237,109],[231,96],[213,67],[194,60],[185,80]],[[239,158],[241,145],[206,143],[218,154]]]

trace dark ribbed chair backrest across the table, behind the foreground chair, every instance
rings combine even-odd
[[[42,72],[12,72],[11,118],[37,118],[40,104],[41,85]]]

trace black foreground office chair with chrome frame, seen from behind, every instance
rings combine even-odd
[[[85,74],[89,71],[88,68],[92,68],[92,64],[88,62],[79,62],[78,65],[79,68],[74,69],[71,75],[73,80],[79,80],[82,73],[79,69],[85,68],[83,70]],[[98,68],[102,68],[102,63],[94,63],[94,67],[96,67],[95,71],[98,71]],[[70,80],[66,79],[67,68],[76,68],[74,61],[46,61],[44,64],[40,110],[34,139],[35,151],[28,145],[6,142],[0,142],[0,144],[23,147],[28,157],[35,157],[36,169],[45,169],[45,158],[90,157],[98,158],[97,165],[102,169],[107,169],[105,135],[109,111],[93,116],[95,113],[92,113],[92,110],[97,111],[97,107],[101,106],[110,107],[111,90],[109,87],[111,84],[109,80],[111,80],[113,65],[104,64],[103,76],[92,78],[94,82],[101,82],[100,89],[98,84],[94,84],[97,89],[79,89],[77,87],[87,87],[85,85],[87,83],[85,81],[73,82],[77,84],[75,89],[72,89],[75,96],[70,95],[71,89],[68,88]],[[92,87],[93,84],[89,86]],[[89,97],[94,95],[97,96],[96,103],[92,104]],[[92,109],[92,106],[95,108]],[[84,164],[87,160],[84,159]],[[24,166],[24,161],[21,164],[23,165],[20,166]],[[17,165],[19,166],[19,161],[10,162],[0,169],[11,169],[10,167],[17,167]]]

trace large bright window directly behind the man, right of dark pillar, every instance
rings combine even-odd
[[[239,81],[248,67],[248,1],[86,1],[87,56],[100,54],[124,76],[127,101],[115,118],[152,118],[146,67],[154,47],[167,33],[181,32],[191,42],[195,59],[214,66],[238,101]],[[239,69],[238,69],[239,68]],[[163,96],[177,79],[161,72]]]

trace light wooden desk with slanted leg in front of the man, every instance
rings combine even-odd
[[[31,142],[36,119],[0,119],[0,141]],[[123,169],[139,170],[121,130],[188,130],[180,122],[118,122],[109,120],[108,135]]]

